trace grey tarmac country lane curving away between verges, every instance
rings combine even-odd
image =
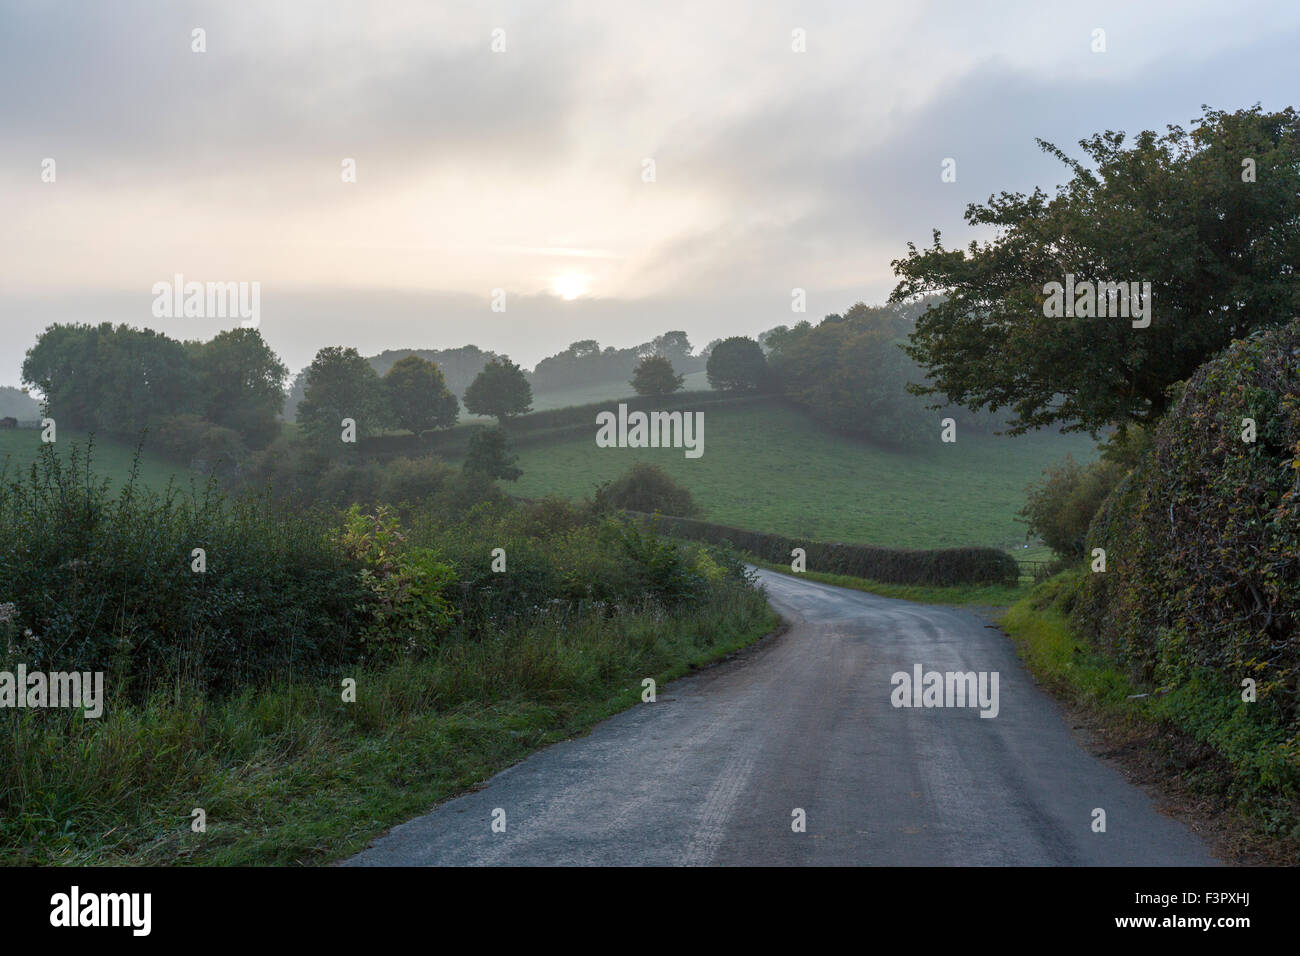
[[[974,613],[759,572],[790,627],[394,827],[350,866],[1214,865]],[[996,671],[998,713],[890,675]],[[495,809],[506,832],[493,832]],[[792,812],[806,813],[806,832]],[[1106,831],[1093,832],[1093,809]]]

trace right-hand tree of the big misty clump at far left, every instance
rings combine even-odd
[[[238,432],[252,447],[280,432],[289,369],[256,329],[230,329],[211,342],[187,342],[198,376],[199,414]]]

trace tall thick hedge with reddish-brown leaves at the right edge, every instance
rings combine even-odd
[[[1208,669],[1239,701],[1253,678],[1252,711],[1300,730],[1300,320],[1196,371],[1093,519],[1093,548],[1106,572],[1086,576],[1075,619],[1095,645],[1143,683]]]

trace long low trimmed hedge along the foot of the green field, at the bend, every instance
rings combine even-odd
[[[729,528],[725,524],[699,522],[692,518],[647,515],[638,511],[628,514],[653,523],[655,531],[708,544],[727,542],[774,563],[789,563],[790,551],[802,548],[807,553],[807,567],[811,571],[866,578],[885,584],[933,584],[940,587],[1015,584],[1020,575],[1015,558],[996,548],[945,548],[933,551],[915,551],[875,545],[829,544],[783,537],[764,531]]]

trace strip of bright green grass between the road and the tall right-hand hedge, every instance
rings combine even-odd
[[[1104,726],[1158,750],[1171,777],[1232,817],[1269,858],[1300,862],[1300,754],[1287,728],[1209,671],[1173,687],[1135,683],[1070,623],[1082,574],[1045,581],[998,622],[1028,669]]]

